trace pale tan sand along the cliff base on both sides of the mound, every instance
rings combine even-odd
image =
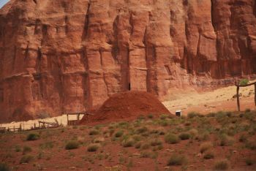
[[[254,86],[249,86],[241,88],[241,110],[246,110],[250,108],[255,110],[254,102]],[[165,107],[170,110],[170,113],[175,113],[176,110],[182,110],[183,115],[187,115],[189,112],[196,111],[198,113],[206,114],[218,111],[236,111],[237,104],[236,98],[233,96],[236,94],[236,86],[229,86],[226,88],[219,88],[214,91],[207,91],[198,93],[196,91],[189,91],[186,93],[178,94],[173,100],[163,102]],[[80,116],[82,118],[82,116]],[[69,119],[75,119],[75,115],[69,116]],[[54,122],[57,119],[59,123],[64,126],[67,125],[67,115],[61,115],[54,118],[45,118],[39,120],[31,120],[24,122],[12,122],[12,123],[2,123],[0,126],[13,128],[14,126],[18,128],[20,124],[24,129],[30,129],[31,126],[38,126],[38,121],[48,121]]]

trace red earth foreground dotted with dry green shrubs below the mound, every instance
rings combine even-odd
[[[253,118],[255,112],[251,110],[248,113],[250,115],[219,112],[211,117],[196,115],[192,118],[162,116],[162,119],[145,118],[130,122],[87,126],[86,129],[82,129],[82,126],[67,127],[64,128],[64,132],[61,132],[63,128],[45,129],[39,131],[40,138],[37,141],[30,142],[26,141],[27,133],[0,134],[0,147],[8,147],[0,149],[2,154],[0,159],[7,162],[10,167],[14,167],[12,163],[14,160],[29,163],[20,164],[20,170],[37,169],[32,166],[34,163],[53,164],[53,161],[60,159],[59,156],[67,159],[67,163],[65,162],[63,166],[64,170],[69,170],[71,165],[78,167],[78,163],[84,161],[87,162],[86,168],[83,164],[79,164],[78,169],[99,170],[104,161],[106,165],[121,164],[124,167],[123,170],[126,169],[125,167],[127,170],[143,170],[145,162],[148,167],[155,170],[157,168],[167,170],[167,167],[190,170],[190,165],[194,165],[198,170],[210,170],[210,167],[214,170],[225,170],[225,161],[216,161],[214,164],[214,159],[221,159],[222,151],[225,151],[227,153],[224,155],[229,160],[227,168],[232,164],[232,168],[237,169],[236,159],[239,159],[239,155],[243,153],[244,165],[241,169],[252,170],[256,158],[256,127],[255,118]],[[162,122],[167,122],[167,126],[163,127]],[[230,129],[233,129],[232,132]],[[18,142],[17,145],[12,144],[9,147],[10,140]],[[69,146],[67,144],[70,142],[72,143],[67,149],[79,147],[80,150],[65,151],[64,145]],[[73,142],[76,145],[73,145]],[[223,146],[219,147],[221,143]],[[23,150],[24,146],[33,147],[33,151],[27,151],[27,147]],[[187,156],[183,156],[184,153]],[[30,159],[26,158],[27,156],[33,157]],[[194,159],[197,159],[197,162],[194,162]],[[129,161],[133,161],[133,164],[129,164]],[[162,161],[168,166],[159,164]],[[205,163],[207,166],[203,167]]]

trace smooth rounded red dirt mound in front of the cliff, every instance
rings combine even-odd
[[[153,94],[143,91],[126,91],[110,96],[94,113],[90,121],[126,120],[148,114],[159,116],[170,114],[170,112]],[[86,123],[86,118],[83,118],[81,123]]]

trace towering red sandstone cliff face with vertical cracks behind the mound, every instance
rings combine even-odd
[[[0,10],[1,121],[255,74],[255,0],[12,0]]]

